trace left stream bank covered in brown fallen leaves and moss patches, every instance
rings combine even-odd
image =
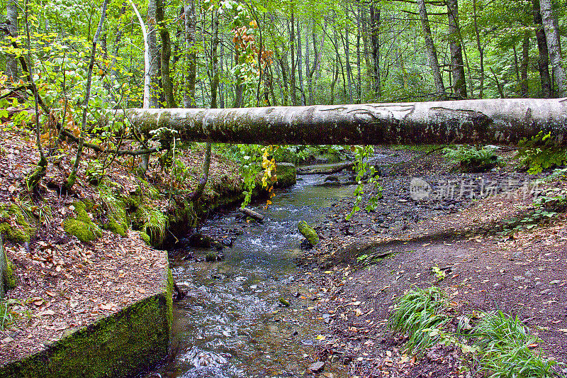
[[[60,187],[72,166],[70,159],[76,154],[74,145],[64,143],[61,147],[67,153],[51,160],[38,189],[30,192],[25,178],[39,160],[35,136],[27,128],[14,128],[9,123],[0,126],[0,132],[0,225],[4,227],[0,232],[5,233],[6,255],[16,267],[16,288],[7,292],[7,302],[3,300],[9,304],[13,322],[4,330],[0,328],[2,366],[157,294],[168,265],[167,251],[152,248],[140,238],[138,230],[159,231],[144,223],[140,219],[143,213],[137,210],[144,207],[151,213],[157,209],[173,218],[175,209],[169,204],[178,198],[173,194],[169,201],[168,193],[173,188],[182,197],[195,189],[204,154],[202,146],[193,145],[180,155],[183,182],[172,181],[159,167],[157,157],[150,160],[144,179],[133,174],[138,161],[118,158],[104,173],[104,187],[112,194],[109,197],[102,187],[89,184],[84,167],[79,169],[72,191],[62,193]],[[84,165],[96,159],[103,161],[102,156],[85,151]],[[240,180],[236,165],[213,153],[205,191],[208,203],[214,203],[220,191],[240,190]],[[122,213],[128,219],[118,221],[126,222],[123,234],[107,229],[111,217],[116,216],[113,204],[130,197],[135,201]],[[67,218],[79,218],[78,201],[89,204],[89,227],[100,233],[96,240],[81,241],[64,231]],[[130,221],[137,223],[137,230],[128,228]]]

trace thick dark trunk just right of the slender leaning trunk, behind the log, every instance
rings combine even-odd
[[[465,67],[461,48],[461,30],[459,29],[459,1],[447,0],[449,16],[449,50],[451,50],[451,75],[453,91],[457,98],[466,99]]]

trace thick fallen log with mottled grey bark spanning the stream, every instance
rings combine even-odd
[[[217,143],[516,144],[539,131],[567,145],[567,99],[481,99],[240,109],[129,109],[143,133],[167,127]]]

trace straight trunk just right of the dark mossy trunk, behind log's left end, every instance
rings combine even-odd
[[[195,103],[195,81],[197,77],[197,51],[195,48],[195,1],[187,0],[184,6],[185,11],[185,48],[186,48],[186,76],[185,76],[185,92],[183,96],[183,106],[185,108],[194,108]],[[238,60],[237,60],[238,61]],[[240,86],[237,86],[240,87]],[[242,88],[240,88],[240,97],[242,99]],[[240,106],[237,102],[236,106]]]

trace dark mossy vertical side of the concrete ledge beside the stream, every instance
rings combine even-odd
[[[69,333],[35,355],[0,366],[0,377],[127,377],[155,365],[167,356],[172,289],[167,267],[158,294]]]

